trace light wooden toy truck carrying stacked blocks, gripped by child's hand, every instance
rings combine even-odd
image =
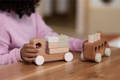
[[[39,56],[36,57],[35,63],[42,65],[44,62],[73,60],[73,54],[69,52],[68,37],[64,35],[50,36],[46,39],[32,39],[30,44],[39,49]]]

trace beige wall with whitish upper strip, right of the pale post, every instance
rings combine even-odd
[[[105,5],[101,0],[91,0],[88,12],[88,32],[120,34],[120,0]]]

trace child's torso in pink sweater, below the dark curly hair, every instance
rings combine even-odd
[[[21,48],[29,40],[36,37],[36,24],[32,17],[24,16],[19,19],[15,16],[8,16],[5,19],[5,26],[10,36],[9,49]]]

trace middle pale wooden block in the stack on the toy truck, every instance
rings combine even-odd
[[[68,42],[52,42],[48,43],[48,48],[69,48]]]

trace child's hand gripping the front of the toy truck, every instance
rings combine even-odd
[[[25,44],[20,51],[21,57],[25,62],[34,62],[35,57],[38,56],[38,49],[31,44]]]

